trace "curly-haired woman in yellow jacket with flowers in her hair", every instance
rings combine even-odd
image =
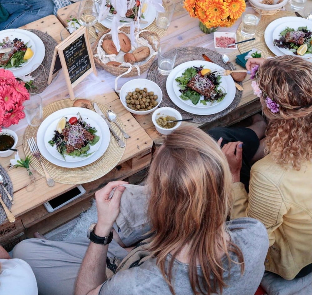
[[[265,157],[251,167],[249,194],[240,183],[241,141],[224,145],[234,181],[234,216],[266,226],[266,270],[286,280],[312,272],[312,64],[285,55],[249,59],[255,94],[268,124]]]

